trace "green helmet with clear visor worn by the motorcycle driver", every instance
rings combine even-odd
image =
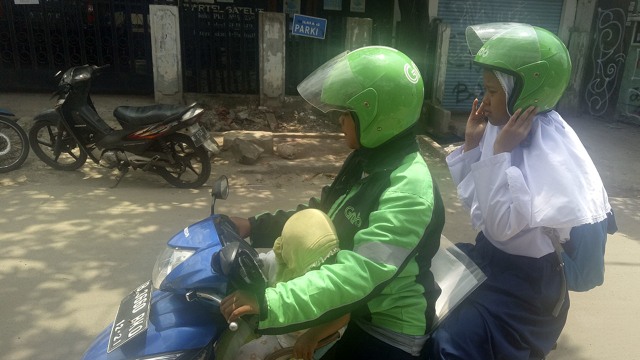
[[[424,84],[418,67],[402,52],[368,46],[329,60],[298,85],[323,112],[352,111],[360,145],[375,148],[420,117]]]

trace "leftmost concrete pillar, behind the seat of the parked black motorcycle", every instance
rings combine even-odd
[[[155,101],[181,104],[183,89],[178,7],[149,5],[149,23]]]

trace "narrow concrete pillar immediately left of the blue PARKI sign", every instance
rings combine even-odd
[[[260,105],[280,106],[285,95],[285,14],[260,12]]]

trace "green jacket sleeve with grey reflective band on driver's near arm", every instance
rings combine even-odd
[[[413,259],[432,212],[433,197],[387,190],[370,225],[356,233],[353,251],[342,250],[335,263],[266,289],[259,332],[309,328],[365,306]]]

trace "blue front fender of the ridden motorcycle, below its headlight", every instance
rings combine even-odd
[[[197,352],[211,345],[226,329],[217,307],[184,295],[155,291],[151,299],[149,328],[119,348],[107,353],[109,324],[82,356],[83,360],[138,359],[168,353]]]

